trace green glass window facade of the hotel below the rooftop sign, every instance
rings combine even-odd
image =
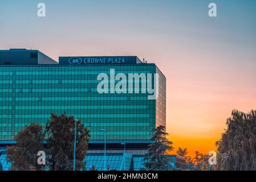
[[[148,93],[97,92],[97,75],[159,73],[159,97]],[[117,81],[115,81],[117,82]],[[141,84],[141,82],[140,82]],[[74,115],[91,130],[91,141],[149,140],[165,125],[165,77],[155,64],[0,65],[0,140],[13,140],[30,123],[45,126],[50,113]]]

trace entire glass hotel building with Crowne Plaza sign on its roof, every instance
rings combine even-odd
[[[97,76],[115,73],[156,74],[158,97],[149,93],[99,93]],[[131,80],[128,80],[130,82]],[[113,81],[116,82],[117,81]],[[110,90],[111,91],[111,90]],[[152,129],[165,126],[166,78],[155,64],[136,56],[59,57],[59,62],[36,50],[0,51],[0,162],[6,162],[6,146],[30,123],[45,126],[51,113],[80,118],[91,131],[87,169],[104,169],[106,130],[108,169],[139,170],[151,143]],[[124,153],[125,144],[125,153]],[[124,162],[125,160],[125,162]],[[125,166],[124,166],[125,164]]]

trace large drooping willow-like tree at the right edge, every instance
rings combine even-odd
[[[233,110],[218,142],[216,170],[256,170],[256,110]]]

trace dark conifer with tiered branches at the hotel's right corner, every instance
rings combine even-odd
[[[151,171],[164,171],[172,168],[170,161],[172,159],[166,156],[166,152],[173,150],[173,143],[166,139],[169,135],[165,132],[165,126],[158,126],[152,130],[155,135],[151,138],[153,141],[148,146],[148,154],[145,155],[144,166]]]

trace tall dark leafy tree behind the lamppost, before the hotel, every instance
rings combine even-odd
[[[76,170],[84,169],[90,131],[80,119],[76,123]],[[74,160],[75,119],[66,114],[51,114],[46,124],[48,167],[53,171],[71,171]]]

